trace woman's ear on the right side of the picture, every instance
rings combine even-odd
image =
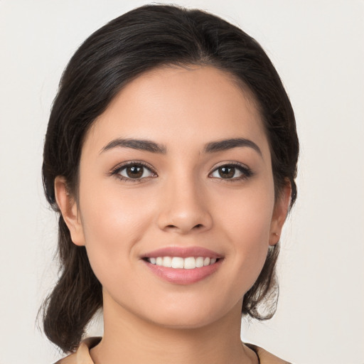
[[[269,245],[276,245],[281,237],[284,221],[287,218],[289,203],[291,202],[291,183],[287,181],[279,198],[274,205],[272,222],[269,231]]]

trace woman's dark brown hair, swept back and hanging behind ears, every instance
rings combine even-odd
[[[64,176],[70,194],[77,197],[87,130],[122,87],[163,65],[210,65],[252,92],[269,141],[275,196],[290,183],[290,207],[296,200],[299,141],[294,112],[277,71],[254,38],[217,16],[179,6],[141,6],[110,21],[80,45],[65,68],[45,135],[43,186],[48,202],[59,213],[60,274],[43,304],[43,328],[65,352],[77,348],[85,326],[102,308],[102,285],[85,247],[71,240],[55,201],[55,178]],[[279,244],[269,248],[262,272],[244,296],[242,315],[273,316],[278,252]],[[259,310],[261,304],[266,314]]]

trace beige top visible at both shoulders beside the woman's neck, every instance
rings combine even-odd
[[[66,358],[58,360],[55,364],[95,364],[90,356],[90,348],[96,346],[100,342],[100,338],[87,338],[82,341],[77,351]],[[257,353],[260,364],[289,364],[289,362],[277,358],[266,350],[257,346],[248,344],[249,348]]]

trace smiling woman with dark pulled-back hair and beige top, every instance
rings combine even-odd
[[[285,363],[240,325],[274,314],[298,151],[276,70],[235,26],[142,6],[92,34],[44,147],[62,264],[44,330],[75,351],[59,363]]]

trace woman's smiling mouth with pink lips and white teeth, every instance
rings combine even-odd
[[[166,247],[141,257],[149,272],[172,284],[194,284],[215,273],[224,257],[202,247]]]

